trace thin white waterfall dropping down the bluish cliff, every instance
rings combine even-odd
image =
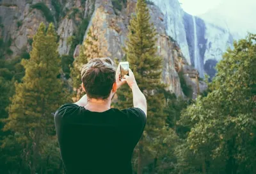
[[[204,77],[204,70],[202,68],[202,63],[200,61],[200,54],[198,54],[198,41],[197,41],[197,34],[196,34],[196,19],[195,16],[193,18],[193,26],[194,26],[194,63],[195,68],[198,70],[200,77]]]

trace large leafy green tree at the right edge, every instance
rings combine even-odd
[[[183,112],[180,123],[191,127],[189,151],[205,172],[255,173],[256,35],[234,42],[217,65],[207,97]],[[207,164],[207,165],[205,165]]]

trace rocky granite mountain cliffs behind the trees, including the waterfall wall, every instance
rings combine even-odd
[[[0,35],[5,41],[12,38],[11,57],[31,50],[31,38],[40,22],[54,22],[60,56],[77,58],[88,28],[94,26],[95,34],[106,40],[109,56],[121,60],[136,0],[0,0],[0,4]],[[157,46],[163,58],[166,90],[184,96],[180,84],[180,74],[184,74],[195,97],[198,87],[200,91],[206,88],[197,71],[200,77],[205,72],[214,76],[214,66],[227,47],[232,47],[230,29],[189,15],[178,0],[151,0],[148,7],[159,33]]]

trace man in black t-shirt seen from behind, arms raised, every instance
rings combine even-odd
[[[120,65],[119,65],[120,66]],[[134,74],[120,81],[109,58],[91,59],[81,72],[86,95],[55,113],[58,142],[66,173],[132,173],[131,157],[147,118],[147,101]],[[116,90],[127,83],[134,107],[111,108]]]

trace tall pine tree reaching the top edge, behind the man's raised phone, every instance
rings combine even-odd
[[[164,85],[161,83],[162,61],[157,56],[157,32],[150,23],[150,14],[145,0],[138,0],[136,15],[132,16],[125,52],[131,70],[134,72],[140,90],[147,98],[148,118],[145,132],[138,143],[138,174],[143,170],[143,158],[157,159],[161,137],[166,136],[164,129],[166,115],[163,113],[164,95],[159,92]],[[118,91],[118,105],[131,107],[131,92]],[[164,131],[163,131],[164,130]],[[156,143],[157,142],[157,143]],[[158,146],[156,146],[158,144]]]

